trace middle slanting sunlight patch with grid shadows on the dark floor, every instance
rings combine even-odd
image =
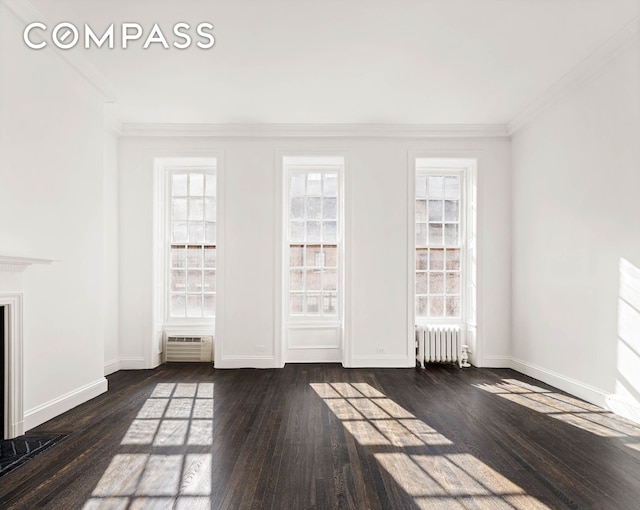
[[[311,387],[418,508],[547,508],[472,454],[451,453],[452,441],[369,384]],[[511,383],[505,387],[516,393],[531,391]],[[440,453],[441,448],[447,448],[446,453]],[[428,453],[420,453],[423,450]]]

